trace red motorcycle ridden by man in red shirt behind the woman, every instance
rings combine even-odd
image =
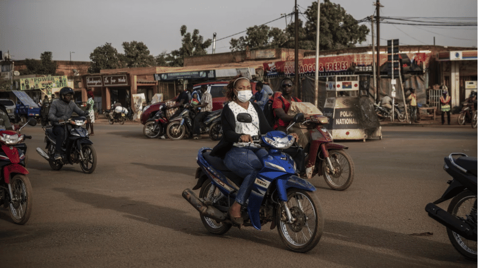
[[[311,115],[302,124],[307,129],[309,140],[304,148],[306,164],[302,169],[306,171],[306,177],[324,175],[325,182],[333,190],[347,189],[354,179],[354,163],[344,152],[348,147],[333,142],[324,126],[328,124],[327,116]]]

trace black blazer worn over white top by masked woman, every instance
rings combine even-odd
[[[266,134],[269,131],[273,131],[274,129],[268,124],[266,116],[261,108],[259,108],[259,105],[254,102],[251,102],[249,105],[252,105],[254,109],[256,109],[257,116],[259,117],[260,133]],[[210,155],[224,158],[224,155],[226,155],[226,153],[232,148],[232,144],[238,142],[239,137],[243,135],[243,133],[236,133],[236,118],[229,108],[229,103],[224,106],[224,109],[222,109],[221,124],[223,133],[222,138],[219,143],[212,148]]]

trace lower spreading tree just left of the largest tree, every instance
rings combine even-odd
[[[231,51],[277,48],[281,47],[288,39],[286,32],[277,27],[254,25],[247,29],[246,37],[231,38],[229,48]]]

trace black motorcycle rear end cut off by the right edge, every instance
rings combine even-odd
[[[446,227],[450,242],[460,254],[477,261],[477,157],[451,153],[445,157],[443,169],[453,179],[437,201],[426,205],[425,211]],[[437,206],[451,198],[447,211]]]

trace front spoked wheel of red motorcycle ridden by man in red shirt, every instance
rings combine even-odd
[[[342,150],[330,150],[328,153],[334,172],[330,170],[327,161],[323,161],[325,182],[333,190],[345,190],[354,180],[355,166],[352,157]]]

